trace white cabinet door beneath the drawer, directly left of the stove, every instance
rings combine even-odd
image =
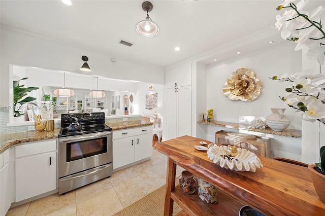
[[[16,159],[16,202],[56,189],[56,152]]]

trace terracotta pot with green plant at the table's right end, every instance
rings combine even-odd
[[[310,164],[311,179],[319,199],[325,203],[325,146],[320,148],[320,163]]]

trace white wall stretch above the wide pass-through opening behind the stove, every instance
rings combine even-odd
[[[11,105],[8,90],[12,86],[10,64],[70,71],[82,74],[79,68],[86,55],[92,75],[120,80],[134,80],[148,83],[165,83],[164,68],[109,56],[99,51],[87,50],[60,41],[40,37],[1,26],[1,81],[0,105]],[[111,57],[117,61],[112,63]]]

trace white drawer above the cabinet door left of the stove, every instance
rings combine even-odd
[[[16,158],[56,151],[56,139],[15,146]]]

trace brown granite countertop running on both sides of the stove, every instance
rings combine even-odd
[[[127,128],[143,127],[153,125],[152,122],[146,121],[129,121],[129,122],[117,122],[107,124],[112,130],[120,130]],[[58,138],[60,129],[54,129],[54,131],[27,131],[20,133],[7,133],[0,134],[0,154],[9,149],[11,146],[33,141],[41,141],[46,139]]]

